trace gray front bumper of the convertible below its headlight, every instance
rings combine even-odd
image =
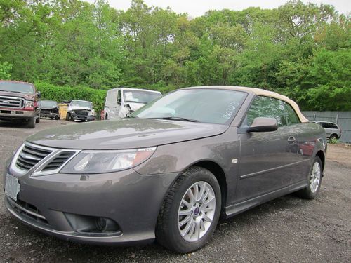
[[[148,242],[154,240],[159,208],[177,175],[139,175],[133,169],[98,175],[22,175],[18,177],[18,201],[6,196],[5,204],[18,220],[65,240],[96,244]],[[109,218],[117,222],[119,229],[81,231],[72,215]]]

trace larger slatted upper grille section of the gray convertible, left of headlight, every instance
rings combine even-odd
[[[39,161],[44,159],[48,154],[51,154],[51,150],[36,147],[33,144],[25,144],[25,146],[18,154],[16,160],[16,166],[21,170],[29,170],[35,166]]]

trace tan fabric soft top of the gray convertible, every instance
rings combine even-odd
[[[192,88],[220,88],[225,90],[243,90],[248,93],[255,93],[256,95],[259,95],[259,96],[274,97],[275,99],[283,100],[284,102],[289,103],[291,107],[293,107],[293,109],[295,110],[296,114],[298,115],[298,118],[302,123],[308,122],[308,119],[305,116],[303,116],[303,114],[300,112],[300,109],[298,107],[298,104],[296,104],[296,102],[294,102],[293,100],[290,100],[289,97],[280,95],[279,93],[274,93],[273,91],[263,90],[262,88],[248,88],[248,87],[239,87],[239,86],[201,86],[201,87],[192,87]]]

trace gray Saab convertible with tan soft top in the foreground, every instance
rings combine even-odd
[[[190,252],[230,217],[279,196],[315,198],[324,129],[257,88],[183,88],[121,121],[43,130],[4,173],[7,210],[66,240],[156,239]]]

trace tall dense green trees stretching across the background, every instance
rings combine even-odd
[[[190,19],[142,0],[125,12],[105,0],[0,0],[0,23],[3,79],[72,90],[253,86],[303,109],[351,110],[350,17],[328,5],[289,1]]]

